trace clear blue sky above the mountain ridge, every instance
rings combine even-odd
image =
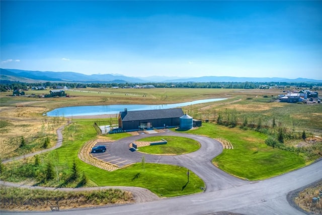
[[[1,67],[322,80],[321,1],[1,1]]]

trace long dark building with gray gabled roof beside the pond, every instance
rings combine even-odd
[[[181,108],[121,111],[119,113],[119,129],[139,130],[180,126],[180,117],[184,113]]]

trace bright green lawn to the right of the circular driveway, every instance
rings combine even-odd
[[[230,141],[233,150],[224,150],[212,162],[239,178],[261,180],[305,166],[303,157],[267,146],[267,136],[257,131],[203,123],[202,127],[187,132]]]

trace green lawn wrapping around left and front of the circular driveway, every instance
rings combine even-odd
[[[190,171],[189,183],[187,183],[187,169],[179,166],[145,163],[143,168],[142,163],[137,163],[120,170],[107,172],[89,165],[79,160],[77,155],[85,142],[96,138],[97,134],[93,127],[94,121],[74,120],[74,122],[64,129],[62,147],[39,155],[40,171],[44,171],[50,161],[54,169],[58,169],[59,182],[55,172],[54,179],[39,185],[75,187],[76,183],[64,184],[63,181],[64,174],[70,174],[73,161],[75,161],[79,173],[85,173],[89,179],[89,186],[138,186],[165,197],[201,192],[200,187],[205,186],[204,182],[192,171]],[[119,139],[127,135],[129,134],[112,134],[111,139]],[[34,158],[30,158],[25,162],[6,164],[6,171],[0,175],[0,178],[14,182],[37,181],[36,176],[32,178],[30,174],[27,176],[26,172],[26,169],[33,168],[34,160]]]

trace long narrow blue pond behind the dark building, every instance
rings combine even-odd
[[[225,98],[216,98],[216,99],[202,99],[192,102],[183,102],[176,104],[161,104],[161,105],[88,105],[88,106],[72,106],[72,107],[61,107],[56,108],[47,113],[47,116],[87,116],[87,115],[103,115],[103,114],[117,114],[120,111],[124,111],[124,108],[127,108],[128,111],[135,110],[156,110],[156,109],[168,109],[176,107],[184,107],[189,105],[195,105],[206,102],[221,101]]]

